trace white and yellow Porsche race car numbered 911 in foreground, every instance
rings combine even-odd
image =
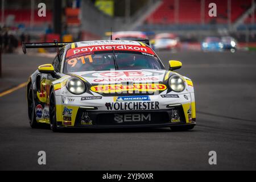
[[[60,47],[52,64],[28,78],[31,127],[65,128],[195,126],[192,81],[166,70],[143,42],[98,40],[77,43],[23,43],[26,48]]]

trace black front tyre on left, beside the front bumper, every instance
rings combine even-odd
[[[50,126],[53,132],[57,132],[57,121],[56,121],[56,102],[55,102],[55,94],[54,91],[51,91],[49,97],[49,119],[50,119]]]

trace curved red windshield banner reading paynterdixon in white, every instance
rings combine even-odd
[[[146,52],[151,55],[155,55],[149,47],[144,46],[135,46],[135,45],[102,45],[102,46],[86,46],[86,47],[77,47],[73,49],[69,49],[67,52],[67,57],[87,53],[87,52],[95,52],[95,51],[135,51],[135,52]]]

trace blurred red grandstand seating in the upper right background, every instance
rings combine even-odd
[[[227,23],[229,18],[228,1],[229,0],[163,0],[162,5],[148,16],[145,22],[150,24],[207,24],[212,22],[212,19],[215,19],[216,23]],[[245,13],[246,10],[251,7],[251,2],[251,0],[230,0],[230,22],[235,22]],[[209,3],[216,3],[217,5],[216,18],[208,15]],[[175,16],[175,14],[177,14],[177,16]]]

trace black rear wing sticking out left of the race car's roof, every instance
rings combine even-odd
[[[27,48],[52,48],[52,47],[63,47],[67,46],[67,44],[70,44],[72,42],[53,42],[53,43],[25,43],[22,42],[22,51],[24,54],[27,53]]]

